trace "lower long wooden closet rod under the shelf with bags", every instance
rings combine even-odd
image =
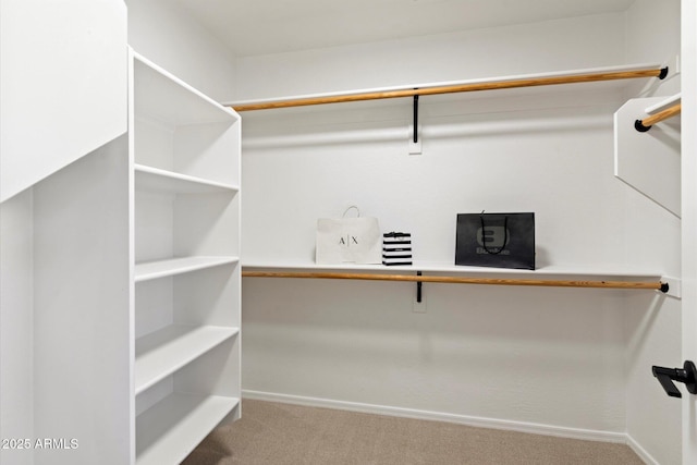
[[[425,277],[409,274],[368,274],[297,271],[243,271],[242,276],[248,278],[351,279],[368,281],[437,282],[453,284],[533,285],[548,287],[606,287],[629,290],[640,289],[661,291],[663,293],[667,293],[669,291],[668,284],[663,282],[524,280],[499,278]]]

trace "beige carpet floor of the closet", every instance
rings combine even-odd
[[[634,465],[626,445],[245,400],[184,465]]]

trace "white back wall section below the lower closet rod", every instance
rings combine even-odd
[[[245,279],[245,389],[584,438],[624,431],[615,294],[424,292],[416,314],[413,284]]]

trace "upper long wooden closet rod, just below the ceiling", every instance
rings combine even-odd
[[[292,100],[264,101],[256,103],[232,105],[235,111],[269,110],[277,108],[304,107],[310,105],[342,103],[348,101],[377,100],[386,98],[413,97],[437,94],[454,94],[476,90],[498,90],[516,87],[549,86],[555,84],[591,83],[597,81],[631,79],[636,77],[659,77],[668,75],[668,68],[644,69],[635,71],[614,71],[602,73],[586,73],[576,75],[560,75],[535,78],[521,78],[510,81],[475,82],[447,86],[424,88],[406,88],[398,90],[372,91],[365,94],[342,94],[320,97],[307,97]]]

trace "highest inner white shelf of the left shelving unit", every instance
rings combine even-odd
[[[135,186],[136,189],[173,194],[235,193],[239,191],[239,187],[232,184],[219,183],[144,164],[135,166]]]

